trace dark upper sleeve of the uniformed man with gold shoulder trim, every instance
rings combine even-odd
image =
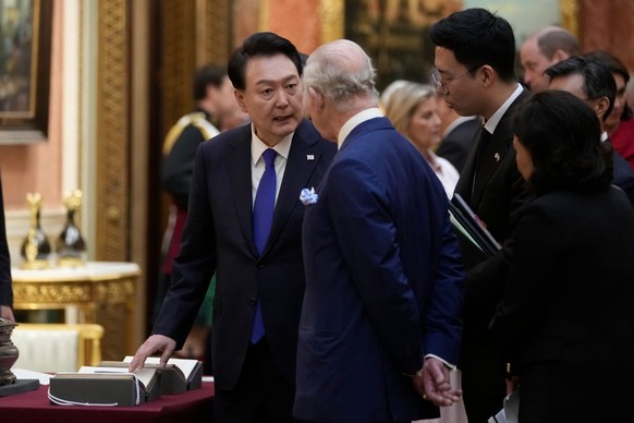
[[[194,125],[187,125],[174,142],[161,166],[163,189],[182,209],[187,208],[196,148],[204,141],[200,130]]]

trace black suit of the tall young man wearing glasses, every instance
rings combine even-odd
[[[517,170],[510,126],[514,109],[528,96],[524,90],[513,101],[491,134],[489,146],[480,147],[480,138],[476,137],[455,189],[500,243],[508,237],[511,214],[531,196]],[[477,178],[475,184],[474,177]],[[487,422],[499,411],[505,395],[504,363],[488,329],[502,300],[504,279],[501,271],[505,263],[501,254],[485,259],[468,242],[461,242],[461,246],[468,273],[460,365],[470,422],[479,423]]]

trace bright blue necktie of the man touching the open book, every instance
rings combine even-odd
[[[257,253],[261,254],[271,231],[273,221],[273,210],[276,208],[276,156],[272,148],[268,148],[261,154],[265,160],[265,171],[259,180],[255,203],[253,205],[253,242]],[[255,304],[255,317],[253,319],[253,329],[251,333],[251,342],[257,343],[265,335],[264,322],[261,318],[261,309],[259,301]]]

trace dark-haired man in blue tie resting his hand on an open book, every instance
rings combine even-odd
[[[230,56],[235,98],[253,123],[200,144],[172,286],[130,365],[157,351],[166,363],[182,347],[216,271],[216,422],[292,420],[305,286],[300,192],[319,184],[336,152],[302,118],[301,74],[295,47],[272,33]]]

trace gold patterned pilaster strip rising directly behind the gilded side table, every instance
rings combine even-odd
[[[126,0],[99,1],[96,257],[129,255],[130,25]]]

